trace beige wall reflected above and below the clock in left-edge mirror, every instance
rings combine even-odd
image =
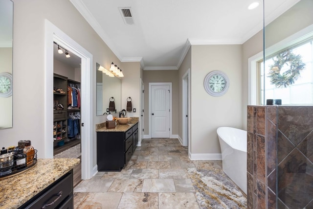
[[[12,73],[12,62],[10,60],[12,60],[12,47],[0,47],[0,72]],[[12,96],[0,97],[0,128],[11,126]]]

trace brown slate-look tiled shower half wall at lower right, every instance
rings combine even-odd
[[[313,208],[313,106],[247,107],[247,202]]]

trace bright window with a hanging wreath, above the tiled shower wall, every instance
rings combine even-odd
[[[275,67],[277,63],[282,64],[280,69]],[[267,99],[281,99],[283,105],[313,104],[313,37],[266,57],[265,63],[258,65],[259,104],[266,104]]]

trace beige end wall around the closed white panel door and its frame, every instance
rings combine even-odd
[[[172,83],[172,134],[178,135],[179,86],[178,70],[144,70],[144,134],[149,134],[149,83]]]

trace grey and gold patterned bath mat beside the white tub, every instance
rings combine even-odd
[[[223,171],[189,168],[201,209],[246,209],[246,195]]]

